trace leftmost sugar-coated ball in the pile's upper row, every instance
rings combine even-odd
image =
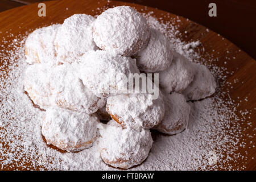
[[[38,28],[28,35],[25,44],[27,63],[57,64],[54,40],[59,27],[60,24],[53,24],[48,27]]]

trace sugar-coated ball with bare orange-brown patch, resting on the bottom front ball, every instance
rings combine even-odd
[[[162,96],[153,99],[152,94],[134,93],[109,97],[106,109],[122,127],[151,129],[164,117]]]

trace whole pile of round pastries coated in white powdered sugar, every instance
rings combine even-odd
[[[141,164],[153,144],[150,130],[174,135],[189,122],[187,101],[211,96],[209,69],[172,49],[142,14],[118,6],[94,18],[75,14],[39,28],[25,44],[24,90],[45,110],[42,135],[77,152],[99,142],[102,160],[117,168]],[[125,93],[117,75],[159,73],[159,97]],[[113,88],[116,92],[105,92]],[[105,121],[105,122],[101,122]]]

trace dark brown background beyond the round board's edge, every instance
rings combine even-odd
[[[256,0],[123,1],[156,7],[189,18],[229,39],[251,57],[256,59]],[[41,1],[0,0],[0,11],[35,2]],[[217,5],[217,17],[208,16],[208,5],[211,2],[214,2]]]

